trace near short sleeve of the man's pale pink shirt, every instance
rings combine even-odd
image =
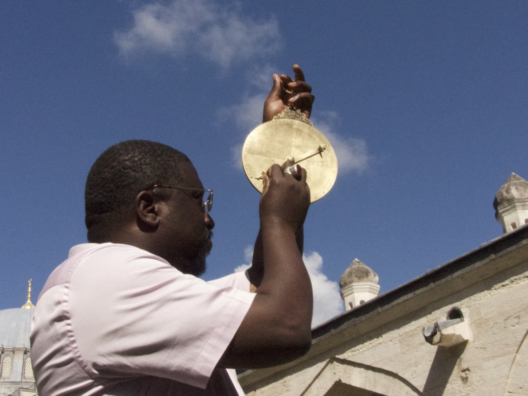
[[[153,375],[199,388],[254,298],[111,245],[79,263],[68,294],[72,343],[92,378]]]

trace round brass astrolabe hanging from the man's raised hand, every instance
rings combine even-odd
[[[306,169],[310,202],[322,198],[334,185],[337,177],[334,148],[300,110],[291,108],[253,129],[242,148],[244,172],[260,193],[262,173],[288,159]]]

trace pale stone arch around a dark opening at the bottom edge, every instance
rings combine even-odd
[[[421,392],[398,374],[379,367],[332,359],[308,385],[301,396],[419,395]]]

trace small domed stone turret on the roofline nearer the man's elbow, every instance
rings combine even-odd
[[[378,274],[360,260],[354,259],[340,278],[341,298],[345,301],[345,309],[350,310],[378,296],[378,280]]]

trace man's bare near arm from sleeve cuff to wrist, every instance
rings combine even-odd
[[[264,228],[258,240],[262,265],[260,271],[248,270],[258,274],[257,295],[220,366],[249,369],[285,363],[306,353],[311,343],[312,285],[295,233]]]

